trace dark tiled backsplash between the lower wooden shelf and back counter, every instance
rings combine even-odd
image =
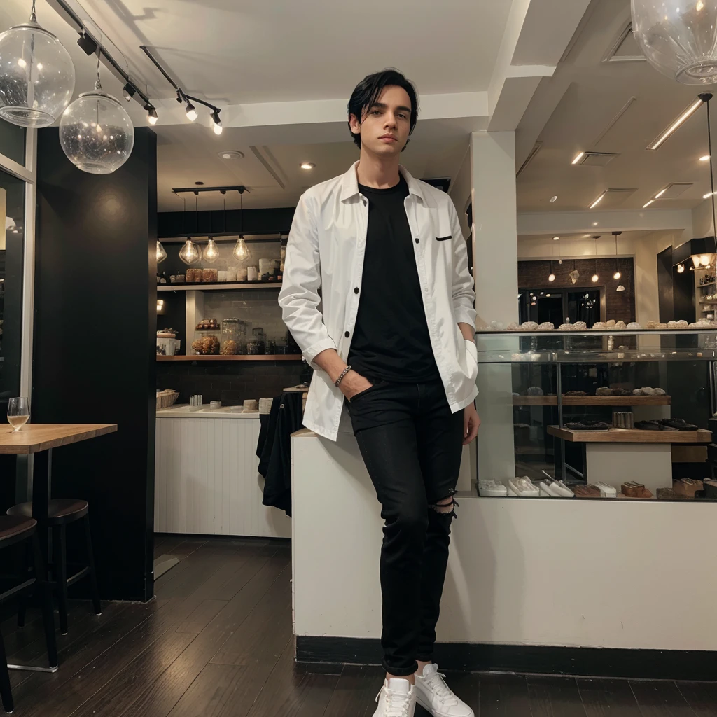
[[[191,394],[201,394],[204,403],[237,406],[244,399],[278,396],[312,373],[304,361],[158,361],[157,388],[179,391],[177,403],[189,403]]]

